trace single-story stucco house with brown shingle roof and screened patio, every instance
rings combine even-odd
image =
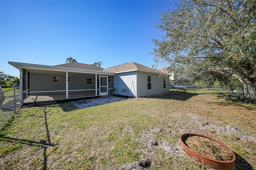
[[[143,97],[170,91],[168,74],[135,62],[106,69],[82,63],[9,64],[20,70],[22,102],[43,101],[44,96],[45,100],[109,94]]]

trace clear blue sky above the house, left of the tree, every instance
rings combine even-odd
[[[0,1],[0,71],[19,77],[8,61],[42,65],[102,61],[103,68],[154,64],[152,38],[160,11],[175,1]],[[158,67],[159,68],[159,67]]]

